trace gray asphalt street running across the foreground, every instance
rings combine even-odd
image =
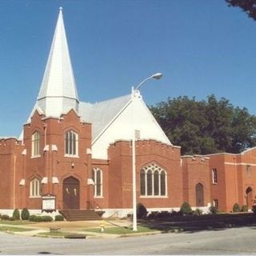
[[[256,254],[255,234],[255,227],[106,239],[0,233],[0,254]]]

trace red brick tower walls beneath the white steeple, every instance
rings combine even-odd
[[[40,154],[38,158],[31,158],[31,137],[35,130],[41,134]],[[78,134],[78,157],[65,157],[64,134],[67,130],[74,130]],[[62,182],[70,176],[80,182],[80,208],[86,209],[88,198],[87,178],[90,177],[91,155],[86,149],[91,145],[91,125],[81,122],[80,118],[70,110],[62,118],[43,118],[36,111],[31,118],[31,123],[24,126],[24,144],[26,146],[26,207],[40,209],[41,198],[29,198],[30,181],[37,177],[48,178],[48,183],[42,185],[42,194],[55,194],[56,206],[63,207]],[[46,145],[49,150],[43,150]],[[58,150],[52,150],[56,145]],[[52,177],[57,177],[59,183],[53,184]]]

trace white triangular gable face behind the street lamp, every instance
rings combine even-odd
[[[130,102],[107,124],[92,143],[93,158],[107,158],[107,148],[116,140],[131,140],[136,130],[137,139],[152,139],[171,145],[140,94],[133,95]]]

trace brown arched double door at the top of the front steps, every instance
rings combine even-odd
[[[79,209],[79,181],[74,177],[69,177],[63,181],[63,208]]]

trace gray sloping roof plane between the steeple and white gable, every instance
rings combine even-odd
[[[128,102],[130,94],[94,104],[80,102],[79,114],[83,121],[92,124],[93,141]]]

